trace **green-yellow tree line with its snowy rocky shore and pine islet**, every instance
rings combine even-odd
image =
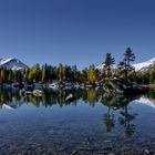
[[[76,65],[70,66],[61,63],[59,66],[49,64],[40,66],[38,63],[32,68],[25,68],[23,71],[1,68],[0,85],[102,86],[106,87],[106,91],[115,90],[117,92],[124,91],[127,87],[133,90],[140,87],[140,85],[141,89],[142,85],[153,85],[155,83],[155,68],[145,72],[135,71],[132,66],[134,61],[135,54],[131,48],[127,48],[118,64],[115,64],[115,59],[111,53],[106,53],[102,70],[96,69],[92,64],[79,71]]]

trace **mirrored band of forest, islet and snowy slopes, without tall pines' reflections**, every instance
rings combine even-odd
[[[73,101],[66,101],[66,96],[69,94],[73,94]],[[12,108],[17,108],[22,104],[33,104],[39,107],[42,106],[52,106],[52,105],[76,105],[76,103],[82,100],[84,103],[87,103],[90,106],[95,106],[97,102],[103,103],[107,107],[112,108],[121,108],[126,106],[133,101],[136,101],[142,104],[146,104],[148,106],[155,107],[155,92],[151,91],[145,95],[138,96],[123,96],[117,95],[114,97],[104,97],[104,92],[102,90],[43,90],[43,95],[41,97],[29,94],[27,96],[20,96],[18,90],[0,90],[0,107],[3,104],[11,106]]]

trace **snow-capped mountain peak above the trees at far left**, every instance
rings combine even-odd
[[[0,59],[0,68],[7,68],[11,70],[24,70],[27,65],[16,58]]]

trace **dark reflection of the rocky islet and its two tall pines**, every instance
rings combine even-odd
[[[106,132],[111,132],[114,128],[114,113],[120,110],[118,122],[124,126],[125,135],[131,137],[135,132],[135,125],[133,120],[136,114],[128,112],[128,105],[132,101],[138,99],[138,96],[116,96],[110,99],[102,99],[102,103],[108,107],[107,114],[104,114],[104,123],[106,126]],[[112,114],[110,114],[112,111]]]

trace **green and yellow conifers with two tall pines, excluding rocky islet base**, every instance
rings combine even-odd
[[[105,60],[103,61],[103,69],[95,68],[94,64],[83,70],[78,70],[76,65],[63,65],[52,66],[50,64],[34,64],[32,68],[25,68],[23,71],[20,70],[7,70],[0,69],[0,83],[13,83],[13,82],[41,82],[51,83],[58,82],[73,82],[73,83],[90,83],[95,84],[96,82],[104,82],[111,78],[121,78],[124,81],[132,81],[138,84],[154,84],[155,83],[155,66],[152,66],[147,71],[135,71],[132,63],[136,56],[134,52],[127,48],[125,53],[122,55],[122,60],[118,64],[115,64],[115,59],[111,53],[106,53]]]

